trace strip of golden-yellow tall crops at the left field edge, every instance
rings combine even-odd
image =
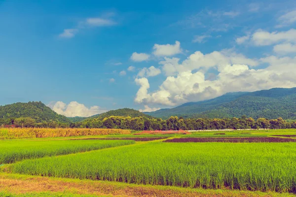
[[[71,128],[0,128],[0,139],[44,138],[87,135],[129,134],[130,130],[120,129],[71,129]]]

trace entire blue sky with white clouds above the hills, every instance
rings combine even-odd
[[[0,105],[154,111],[296,87],[295,0],[0,0]]]

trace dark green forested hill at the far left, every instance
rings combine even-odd
[[[4,120],[20,117],[31,117],[37,123],[56,121],[60,123],[70,123],[70,120],[63,115],[59,115],[42,102],[17,102],[0,106],[0,122]]]

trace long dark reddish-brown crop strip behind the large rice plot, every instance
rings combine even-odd
[[[296,142],[296,139],[280,137],[188,137],[167,139],[164,142]]]

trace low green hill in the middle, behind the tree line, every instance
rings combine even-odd
[[[129,109],[129,108],[123,108],[123,109],[116,109],[116,110],[111,110],[111,111],[107,111],[105,113],[102,113],[102,114],[98,114],[98,115],[94,115],[94,116],[91,116],[89,118],[91,119],[101,119],[103,120],[104,118],[107,118],[107,117],[110,117],[110,116],[124,116],[124,117],[127,117],[127,116],[130,116],[130,117],[147,117],[147,118],[152,118],[151,116],[147,115],[147,114],[144,114],[138,110],[135,110],[135,109]]]

